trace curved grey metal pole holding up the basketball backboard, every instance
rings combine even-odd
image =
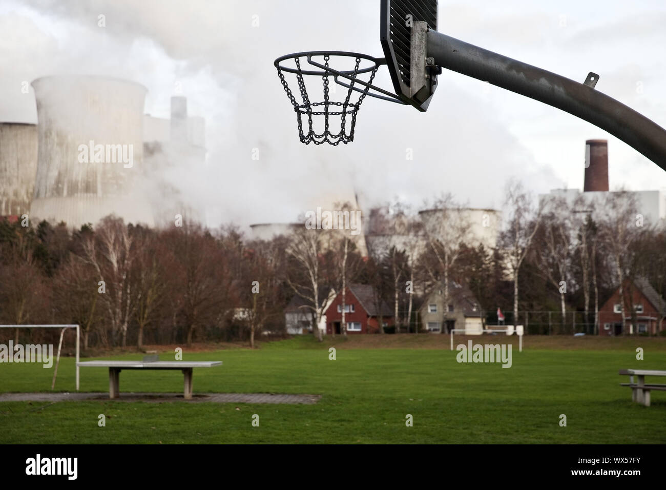
[[[434,64],[552,105],[604,129],[666,170],[666,130],[630,107],[556,73],[428,31]]]

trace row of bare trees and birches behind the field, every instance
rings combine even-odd
[[[326,301],[342,292],[346,335],[346,288],[364,283],[374,288],[377,311],[392,311],[396,331],[414,332],[422,328],[417,311],[425,295],[441,285],[448,304],[456,281],[468,285],[488,321],[497,307],[513,309],[514,318],[519,310],[559,311],[564,332],[567,311],[579,311],[595,333],[599,307],[625,279],[645,277],[662,297],[666,292],[666,232],[645,221],[632,193],[536,201],[513,182],[492,246],[474,235],[479,223],[466,209],[452,195],[422,209],[399,201],[377,207],[366,217],[364,243],[348,230],[305,226],[261,241],[233,226],[149,229],[114,216],[78,230],[4,220],[0,321],[79,324],[83,349],[254,346],[262,332],[284,333],[294,295],[318,325]],[[319,329],[313,333],[322,338]],[[38,334],[13,335],[18,342]]]

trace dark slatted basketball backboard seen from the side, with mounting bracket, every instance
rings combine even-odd
[[[437,87],[436,67],[426,67],[426,31],[437,31],[437,4],[437,0],[382,0],[380,9],[380,41],[394,89],[420,111],[428,109]]]

